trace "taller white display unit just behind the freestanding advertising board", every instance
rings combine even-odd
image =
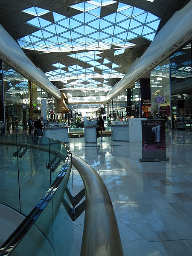
[[[142,142],[141,120],[147,118],[129,118],[129,142]]]

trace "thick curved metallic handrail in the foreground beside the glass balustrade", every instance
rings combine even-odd
[[[85,218],[81,256],[123,256],[119,229],[105,183],[84,160],[72,154],[85,188]]]

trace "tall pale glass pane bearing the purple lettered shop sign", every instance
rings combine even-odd
[[[151,70],[151,109],[155,116],[170,119],[170,76],[169,58]]]

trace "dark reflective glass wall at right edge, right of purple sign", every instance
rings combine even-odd
[[[191,43],[170,57],[172,126],[192,127],[192,49]]]

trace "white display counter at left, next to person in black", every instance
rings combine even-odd
[[[43,128],[43,136],[67,143],[69,142],[68,129],[69,126],[46,125]]]

